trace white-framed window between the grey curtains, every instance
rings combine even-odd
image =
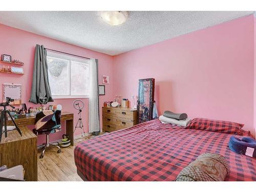
[[[53,98],[89,97],[89,59],[48,51],[47,62]]]

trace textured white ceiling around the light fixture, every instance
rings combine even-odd
[[[109,55],[155,44],[253,11],[130,11],[110,26],[97,11],[0,11],[0,23]]]

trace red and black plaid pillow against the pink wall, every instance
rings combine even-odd
[[[244,124],[230,121],[195,118],[190,121],[186,128],[241,135],[243,126]]]

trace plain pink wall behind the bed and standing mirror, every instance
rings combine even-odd
[[[245,123],[253,131],[253,16],[114,56],[114,94],[155,78],[158,111]]]

